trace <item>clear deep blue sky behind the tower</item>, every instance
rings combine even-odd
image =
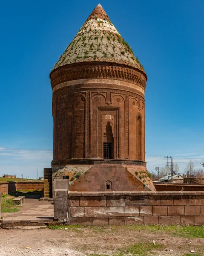
[[[0,175],[51,166],[49,73],[98,1],[4,1],[0,8]],[[204,162],[204,1],[101,0],[147,72],[149,171]]]

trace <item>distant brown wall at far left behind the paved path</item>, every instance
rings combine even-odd
[[[9,194],[16,190],[43,190],[44,183],[43,181],[9,181],[9,182],[0,182],[0,192],[3,194]]]

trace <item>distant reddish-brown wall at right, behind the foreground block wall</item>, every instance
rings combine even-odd
[[[156,191],[204,191],[204,185],[155,184]]]

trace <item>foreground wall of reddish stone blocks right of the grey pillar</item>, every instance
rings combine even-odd
[[[70,224],[204,225],[203,192],[69,192],[68,203]]]

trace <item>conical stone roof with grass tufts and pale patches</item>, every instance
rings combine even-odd
[[[129,44],[111,23],[101,4],[89,15],[53,70],[67,64],[91,61],[125,64],[145,73],[138,58],[135,58]]]

